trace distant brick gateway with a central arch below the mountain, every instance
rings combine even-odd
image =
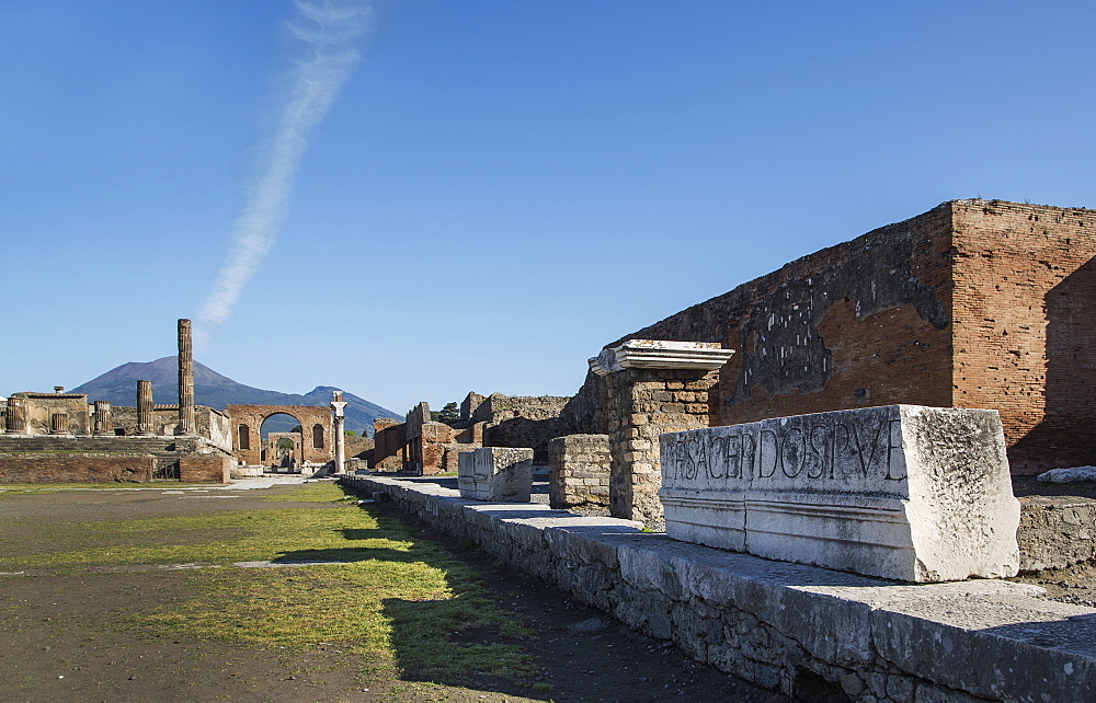
[[[286,414],[300,423],[301,461],[327,463],[334,459],[331,440],[331,411],[313,405],[227,405],[232,423],[232,453],[249,465],[262,462],[263,441],[259,434],[271,415]]]

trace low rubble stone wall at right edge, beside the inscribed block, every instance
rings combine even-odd
[[[1020,498],[1020,569],[1064,568],[1096,560],[1096,500],[1073,496]]]

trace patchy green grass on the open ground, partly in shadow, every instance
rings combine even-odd
[[[0,505],[7,499],[16,497],[0,495]],[[416,539],[416,528],[381,508],[347,505],[356,497],[330,483],[267,500],[288,503],[277,509],[44,525],[46,539],[2,543],[0,572],[191,565],[185,596],[111,626],[149,638],[185,633],[274,653],[322,644],[355,657],[367,677],[387,672],[458,684],[495,677],[536,688],[533,657],[525,650],[528,633],[518,619],[492,601],[475,571],[438,544]],[[8,527],[0,519],[0,532]],[[317,561],[338,564],[233,566]]]

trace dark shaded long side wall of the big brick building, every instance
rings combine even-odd
[[[951,404],[951,209],[803,256],[626,335],[735,349],[710,422],[893,403]],[[564,418],[604,431],[604,382],[587,376]]]

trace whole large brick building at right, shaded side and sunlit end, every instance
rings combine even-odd
[[[1096,464],[1096,211],[952,200],[693,306],[631,338],[735,353],[710,425],[909,403],[1001,413],[1014,474]],[[562,413],[607,433],[606,377]]]

